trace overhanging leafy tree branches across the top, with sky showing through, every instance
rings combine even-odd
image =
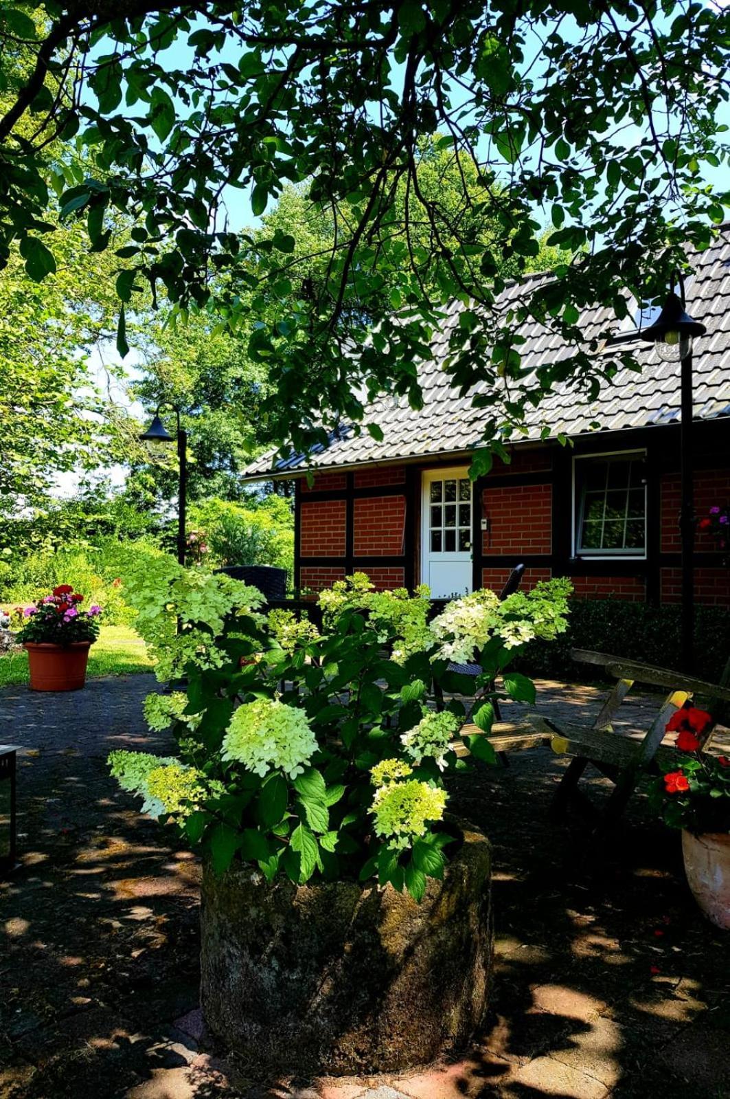
[[[708,169],[725,163],[728,9],[689,0],[259,0],[114,4],[47,0],[0,16],[9,107],[0,120],[0,259],[18,241],[31,278],[59,231],[86,220],[114,248],[126,310],[146,289],[184,315],[250,330],[271,384],[272,440],[322,442],[375,392],[408,393],[448,302],[463,302],[448,369],[491,382],[486,436],[518,425],[573,371],[588,391],[630,353],[580,343],[587,303],[626,313],[661,295],[723,218]],[[31,63],[18,77],[19,52]],[[14,65],[14,68],[12,66]],[[29,125],[32,120],[33,125]],[[460,176],[453,204],[424,182],[424,138]],[[54,142],[61,143],[60,152]],[[74,142],[91,167],[63,146]],[[323,277],[291,233],[233,232],[235,190],[255,215],[287,184],[332,219]],[[485,209],[488,242],[474,231]],[[494,302],[534,262],[542,219],[573,258],[509,313]],[[384,288],[388,293],[384,295]],[[569,364],[526,375],[528,313],[575,341]]]

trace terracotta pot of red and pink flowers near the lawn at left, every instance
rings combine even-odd
[[[86,682],[89,647],[99,635],[101,607],[81,610],[83,596],[59,584],[23,610],[18,641],[27,652],[31,690],[79,690]]]

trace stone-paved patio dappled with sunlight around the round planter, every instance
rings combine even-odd
[[[565,761],[510,756],[452,782],[494,844],[491,1013],[458,1063],[375,1079],[251,1081],[207,1040],[198,997],[195,859],[109,779],[145,731],[149,676],[72,695],[0,692],[20,756],[21,867],[0,884],[0,1099],[730,1099],[730,939],[698,913],[678,835],[637,798],[614,842],[555,826]],[[539,685],[555,718],[591,687]],[[629,696],[629,725],[655,700]],[[606,793],[603,779],[592,796]]]

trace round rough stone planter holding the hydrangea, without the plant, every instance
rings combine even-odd
[[[463,1047],[492,966],[491,848],[470,825],[417,904],[355,881],[204,868],[201,1002],[252,1075],[396,1072]]]

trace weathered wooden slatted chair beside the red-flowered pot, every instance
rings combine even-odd
[[[730,660],[722,675],[722,684],[710,684],[678,671],[605,653],[573,650],[571,655],[575,660],[603,668],[607,676],[616,679],[616,684],[592,725],[549,722],[554,729],[550,741],[552,750],[572,757],[555,793],[553,817],[562,818],[570,804],[583,811],[588,809],[595,815],[595,809],[579,789],[585,768],[593,764],[615,784],[603,813],[604,822],[610,824],[624,812],[643,774],[666,774],[676,767],[677,750],[673,745],[662,744],[666,724],[672,714],[696,695],[712,700],[709,711],[715,718],[715,724],[700,737],[701,746],[709,746],[722,704],[730,702]],[[616,733],[611,725],[634,682],[669,688],[659,712],[640,740]]]

